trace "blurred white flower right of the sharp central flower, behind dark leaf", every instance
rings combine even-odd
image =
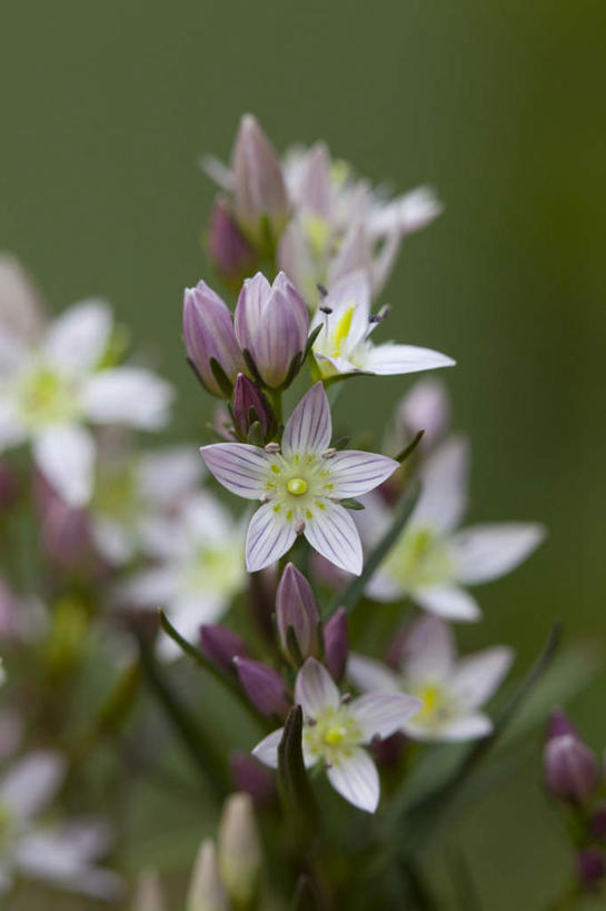
[[[425,463],[421,492],[405,531],[370,580],[377,601],[411,597],[448,620],[474,621],[479,606],[463,585],[498,578],[514,570],[545,537],[542,525],[526,522],[484,524],[455,531],[467,498],[467,445],[443,444]],[[393,517],[378,497],[367,497],[356,514],[362,539],[372,546]]]

